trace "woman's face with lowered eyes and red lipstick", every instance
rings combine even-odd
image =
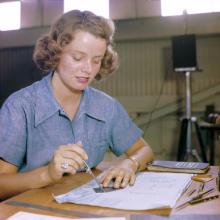
[[[105,39],[84,31],[76,32],[61,54],[55,71],[57,83],[71,92],[85,89],[99,72],[106,47]]]

